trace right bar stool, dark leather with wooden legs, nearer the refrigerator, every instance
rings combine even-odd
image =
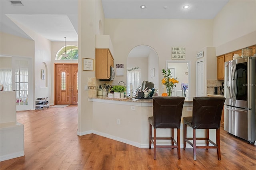
[[[224,97],[194,97],[192,117],[184,117],[184,149],[186,142],[193,147],[194,160],[196,148],[217,149],[218,160],[220,157],[220,119],[225,102]],[[193,138],[187,137],[187,125],[193,128]],[[206,137],[196,138],[196,129],[206,129]],[[216,129],[216,143],[209,139],[209,129]],[[189,140],[193,140],[193,143]],[[206,146],[196,146],[196,140],[206,140]],[[213,146],[209,146],[209,142]]]

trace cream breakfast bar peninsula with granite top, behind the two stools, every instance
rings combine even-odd
[[[92,103],[93,122],[92,133],[113,140],[124,142],[138,148],[149,146],[149,123],[148,117],[153,116],[152,99],[120,99],[108,97],[89,97]],[[193,98],[185,99],[180,127],[180,146],[183,148],[183,117],[192,116],[191,107]],[[190,107],[188,109],[188,107]],[[189,111],[188,111],[189,110]],[[170,136],[170,129],[157,129],[162,137]],[[176,130],[174,130],[176,136]],[[203,129],[196,130],[197,136],[204,136]],[[192,136],[192,128],[187,130],[188,136]],[[216,141],[215,130],[210,129],[210,138]],[[158,144],[170,144],[158,140]],[[204,145],[203,141],[197,144]]]

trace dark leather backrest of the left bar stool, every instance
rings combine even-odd
[[[185,97],[153,97],[154,128],[180,128]]]

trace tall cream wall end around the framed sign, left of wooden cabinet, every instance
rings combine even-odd
[[[94,71],[83,71],[82,58],[95,59],[95,34],[99,34],[100,21],[104,28],[101,1],[78,1],[78,135],[92,132],[92,102],[83,89],[88,85],[88,77],[95,77],[95,64]]]

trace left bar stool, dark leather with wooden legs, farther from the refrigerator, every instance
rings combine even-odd
[[[153,97],[153,117],[149,117],[149,148],[154,144],[154,159],[156,148],[177,148],[180,159],[180,121],[185,97]],[[152,137],[152,126],[154,137]],[[170,128],[171,137],[156,137],[156,128]],[[174,128],[177,129],[177,141],[174,139]],[[171,140],[172,145],[156,145],[156,140]],[[174,145],[174,143],[176,145]]]

